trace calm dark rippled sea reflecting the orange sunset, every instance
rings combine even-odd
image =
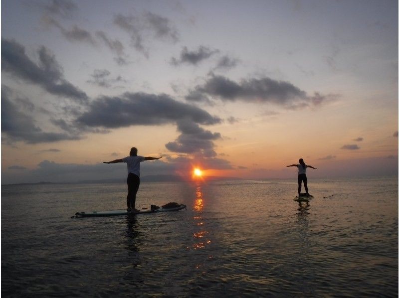
[[[397,297],[398,177],[1,188],[4,297]],[[334,195],[331,198],[323,197]]]

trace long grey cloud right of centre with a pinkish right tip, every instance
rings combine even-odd
[[[239,83],[220,75],[210,74],[203,85],[198,85],[186,96],[188,101],[210,102],[243,101],[246,103],[273,103],[289,109],[318,106],[336,99],[335,95],[308,96],[305,91],[290,82],[276,81],[268,77],[242,79]]]

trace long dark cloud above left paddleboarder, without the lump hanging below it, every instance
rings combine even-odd
[[[128,92],[120,97],[101,97],[92,101],[88,111],[78,117],[77,122],[88,127],[120,128],[173,124],[182,119],[203,125],[221,122],[220,118],[165,94]]]

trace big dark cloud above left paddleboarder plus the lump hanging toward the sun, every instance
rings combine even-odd
[[[166,144],[173,152],[214,157],[214,140],[219,133],[211,133],[199,125],[220,123],[221,119],[208,112],[175,101],[165,94],[125,93],[120,97],[101,97],[92,101],[88,110],[76,120],[76,126],[90,128],[121,128],[132,125],[177,124],[181,135]]]

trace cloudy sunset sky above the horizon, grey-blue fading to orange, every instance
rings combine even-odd
[[[398,174],[398,1],[2,0],[1,183]]]

